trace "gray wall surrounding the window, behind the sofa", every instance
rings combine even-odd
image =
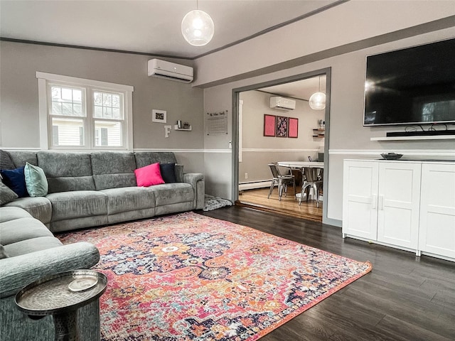
[[[178,151],[186,171],[203,172],[203,90],[147,76],[153,57],[2,41],[0,119],[2,148],[40,148],[36,71],[132,85],[134,149]],[[174,63],[192,65],[188,60]],[[171,131],[151,121],[151,110],[167,111],[167,124],[188,121],[192,131]],[[191,154],[186,155],[186,150]],[[196,152],[195,152],[196,150]],[[184,161],[184,162],[183,162]]]

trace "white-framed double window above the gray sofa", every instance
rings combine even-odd
[[[129,85],[36,72],[41,148],[132,149]]]

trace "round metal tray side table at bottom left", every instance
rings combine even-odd
[[[107,277],[97,271],[75,270],[40,278],[16,294],[18,310],[29,317],[53,315],[55,341],[78,341],[77,309],[99,299]]]

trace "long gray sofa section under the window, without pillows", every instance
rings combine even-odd
[[[21,197],[6,207],[21,207],[52,232],[95,227],[155,215],[202,209],[204,178],[183,173],[176,164],[176,183],[138,187],[134,170],[151,163],[176,163],[171,152],[93,153],[10,152],[14,166],[26,162],[43,169],[45,197]]]

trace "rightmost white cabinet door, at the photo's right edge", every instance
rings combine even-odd
[[[455,258],[455,165],[424,163],[419,248]]]

